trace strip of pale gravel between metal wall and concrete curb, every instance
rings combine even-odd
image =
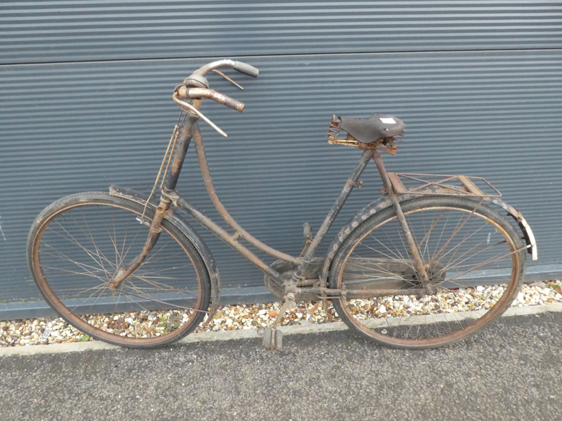
[[[489,309],[495,296],[501,295],[502,286],[479,286],[471,289],[451,291],[436,297],[420,300],[413,296],[395,296],[378,300],[353,300],[351,312],[359,319],[417,315],[443,312],[459,312]],[[524,284],[512,306],[562,303],[560,281],[533,282]],[[329,303],[329,301],[328,301]],[[198,326],[195,330],[229,331],[265,327],[279,314],[282,303],[224,305],[219,308],[209,326]],[[120,314],[97,314],[88,316],[88,322],[106,330],[118,330],[121,335],[147,337],[160,335],[170,328],[187,321],[181,311],[134,312]],[[281,326],[298,324],[301,321],[329,323],[339,321],[332,305],[323,308],[321,302],[298,303],[296,308],[284,315]],[[0,322],[0,346],[46,345],[61,342],[90,341],[88,335],[76,330],[60,317],[7,320]]]

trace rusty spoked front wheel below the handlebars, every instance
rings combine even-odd
[[[39,291],[68,323],[127,347],[169,344],[192,332],[210,301],[200,254],[167,219],[138,269],[112,290],[115,272],[142,250],[149,227],[143,207],[107,193],[67,196],[49,205],[28,237],[28,262]],[[154,212],[147,209],[145,218]]]

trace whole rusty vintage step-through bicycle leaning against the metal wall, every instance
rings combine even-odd
[[[280,349],[278,324],[300,300],[331,300],[360,335],[410,349],[469,337],[509,307],[523,282],[527,253],[537,258],[531,228],[482,177],[388,172],[380,152],[395,154],[405,132],[404,122],[393,116],[332,117],[329,143],[359,148],[361,155],[315,235],[303,225],[300,255],[275,250],[244,230],[215,192],[199,127],[203,120],[226,136],[200,111],[204,99],[239,112],[244,108],[209,88],[208,72],[238,85],[220,67],[259,74],[246,63],[219,60],[176,86],[180,115],[150,194],[116,185],[108,192],[73,194],[49,205],[33,223],[29,268],[44,299],[65,321],[99,340],[137,348],[170,344],[208,324],[220,303],[219,270],[183,213],[259,267],[265,285],[284,301],[265,328],[268,349]],[[340,131],[346,135],[339,137]],[[207,193],[232,232],[176,189],[192,141]],[[382,195],[317,256],[371,159]],[[276,260],[265,263],[248,246]]]

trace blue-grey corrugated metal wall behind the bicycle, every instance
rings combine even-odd
[[[217,57],[261,71],[233,75],[244,91],[210,76],[247,107],[207,104],[229,137],[203,135],[221,199],[263,241],[297,254],[356,161],[327,144],[332,113],[385,112],[408,126],[389,168],[487,177],[533,227],[529,271],[559,277],[561,22],[560,2],[2,4],[0,315],[45,311],[25,263],[40,209],[113,182],[148,191],[171,90]],[[193,155],[186,168],[179,190],[215,216]],[[378,196],[374,166],[362,178],[333,233]],[[265,299],[260,271],[205,238],[227,299]]]

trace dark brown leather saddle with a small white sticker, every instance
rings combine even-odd
[[[380,138],[401,136],[406,130],[404,121],[386,114],[373,114],[369,118],[338,118],[341,120],[339,127],[362,143],[373,143]]]

